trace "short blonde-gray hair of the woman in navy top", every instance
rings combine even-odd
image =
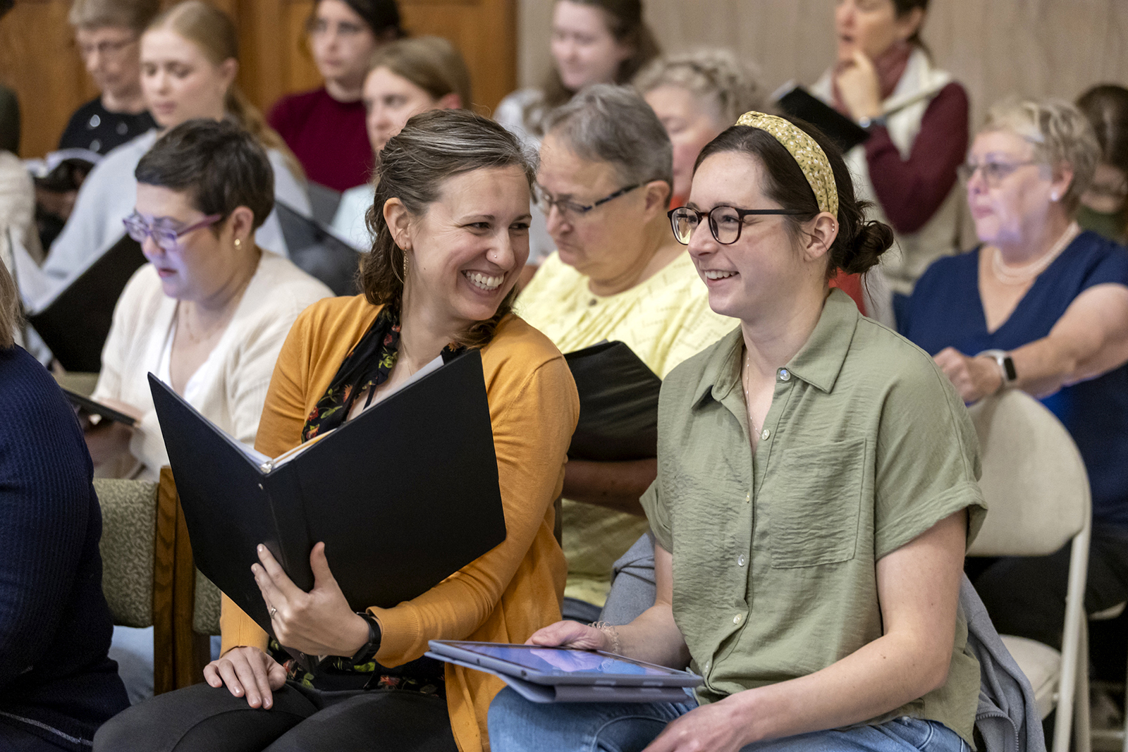
[[[1022,138],[1034,148],[1034,158],[1051,167],[1068,162],[1073,182],[1061,205],[1070,214],[1077,210],[1101,158],[1096,133],[1079,109],[1064,99],[1004,99],[988,110],[978,132],[989,131],[1010,131]]]

